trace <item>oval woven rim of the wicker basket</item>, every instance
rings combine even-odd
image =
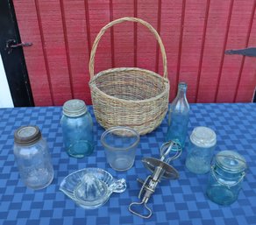
[[[118,72],[118,71],[131,71],[131,70],[137,70],[137,71],[142,71],[142,72],[146,72],[147,74],[151,74],[157,78],[160,78],[163,80],[163,84],[165,84],[165,90],[160,93],[160,95],[156,95],[154,97],[151,97],[151,98],[148,98],[148,99],[143,99],[143,100],[127,100],[127,99],[120,99],[120,98],[117,98],[117,97],[114,97],[112,95],[108,95],[106,93],[104,93],[101,89],[97,88],[96,87],[96,84],[95,84],[95,81],[98,77],[101,77],[103,75],[106,75],[110,72]],[[142,103],[142,102],[152,102],[154,100],[157,100],[159,98],[161,98],[162,96],[164,96],[166,94],[166,92],[168,93],[169,92],[169,86],[170,86],[170,83],[169,83],[169,80],[163,76],[161,76],[160,74],[157,74],[151,70],[147,70],[147,69],[142,69],[142,68],[139,68],[139,67],[116,67],[116,68],[110,68],[110,69],[107,69],[107,70],[103,70],[103,71],[100,71],[99,73],[97,73],[96,75],[94,75],[94,77],[89,81],[89,87],[94,87],[96,89],[96,91],[98,91],[100,94],[102,95],[105,95],[107,96],[108,98],[110,99],[113,99],[113,100],[116,100],[116,101],[120,101],[120,102],[129,102],[129,103]]]

